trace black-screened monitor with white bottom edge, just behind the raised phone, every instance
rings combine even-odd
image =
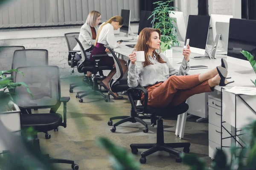
[[[190,50],[193,53],[205,54],[208,31],[210,26],[210,16],[189,15],[186,30],[186,40],[189,40]],[[208,54],[210,56],[210,54]]]

